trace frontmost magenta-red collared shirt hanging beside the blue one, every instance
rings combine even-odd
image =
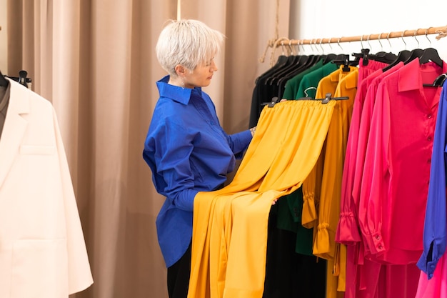
[[[366,147],[359,222],[373,258],[416,263],[422,252],[433,134],[441,88],[423,87],[447,71],[414,59],[378,85]],[[362,207],[360,207],[362,208]]]

